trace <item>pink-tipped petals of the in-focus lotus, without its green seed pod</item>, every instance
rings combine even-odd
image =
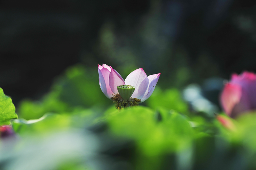
[[[98,65],[100,88],[109,99],[118,94],[117,86],[131,85],[135,87],[132,98],[147,100],[153,93],[161,73],[147,76],[142,68],[132,71],[124,80],[116,70],[106,64]]]

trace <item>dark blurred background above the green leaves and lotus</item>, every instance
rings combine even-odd
[[[248,0],[1,0],[0,87],[14,104],[39,99],[77,63],[124,79],[142,67],[180,89],[255,72],[255,14]]]

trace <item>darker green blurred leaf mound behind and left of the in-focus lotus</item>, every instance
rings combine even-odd
[[[39,119],[47,112],[73,112],[92,106],[99,112],[107,103],[111,101],[100,90],[97,68],[92,71],[78,65],[68,68],[41,101],[23,100],[18,113],[26,120]]]

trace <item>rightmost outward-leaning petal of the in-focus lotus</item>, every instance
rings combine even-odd
[[[141,102],[144,102],[145,100],[147,100],[153,93],[155,87],[156,87],[156,83],[158,82],[158,79],[160,77],[161,73],[158,74],[153,74],[153,75],[149,75],[147,78],[149,80],[149,84],[148,84],[148,88],[143,96],[143,98],[141,99]]]

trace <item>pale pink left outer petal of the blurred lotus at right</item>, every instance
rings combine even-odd
[[[240,102],[242,97],[242,88],[240,85],[227,83],[221,94],[221,105],[224,111],[230,116],[233,107]]]

